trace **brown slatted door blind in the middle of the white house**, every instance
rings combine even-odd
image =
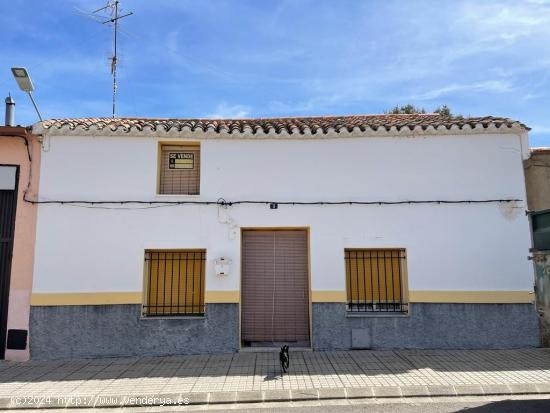
[[[309,346],[305,230],[246,230],[242,240],[244,345]]]

